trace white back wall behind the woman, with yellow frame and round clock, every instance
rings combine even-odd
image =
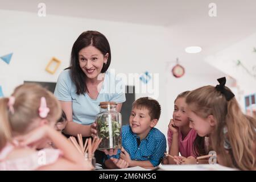
[[[198,86],[215,84],[222,72],[210,67],[199,56],[177,51],[170,31],[164,27],[144,26],[103,20],[69,18],[36,13],[0,10],[0,55],[13,52],[10,65],[0,61],[0,85],[5,96],[24,80],[53,81],[69,65],[71,48],[81,32],[97,30],[109,40],[112,48],[111,68],[116,73],[159,74],[158,99],[162,115],[157,127],[167,134],[167,126],[177,94]],[[174,36],[174,35],[172,35]],[[55,56],[62,61],[55,75],[45,71],[48,61]],[[175,78],[170,69],[180,57],[185,76]],[[143,84],[142,84],[143,85]],[[137,94],[137,98],[147,94]]]

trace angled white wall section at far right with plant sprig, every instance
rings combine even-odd
[[[205,58],[207,63],[237,80],[237,85],[241,88],[240,98],[237,99],[243,111],[245,111],[244,96],[256,92],[256,52],[253,51],[254,47],[256,48],[256,33]],[[241,65],[237,66],[237,60],[240,60],[244,67],[255,76],[251,76]]]

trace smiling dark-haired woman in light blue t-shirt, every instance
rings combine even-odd
[[[117,102],[117,110],[121,110],[125,88],[108,71],[110,62],[109,42],[100,32],[83,32],[73,44],[69,68],[60,73],[54,92],[67,115],[65,134],[90,137],[100,102]]]

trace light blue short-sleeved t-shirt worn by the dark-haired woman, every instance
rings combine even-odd
[[[106,71],[102,88],[96,100],[85,94],[76,94],[76,85],[72,81],[70,69],[60,73],[54,95],[60,101],[72,101],[73,122],[90,125],[100,113],[100,102],[113,101],[122,103],[126,101],[125,85],[121,78],[112,72]]]

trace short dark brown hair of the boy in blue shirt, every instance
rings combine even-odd
[[[150,98],[150,97],[141,97],[133,102],[133,108],[134,107],[145,107],[149,110],[149,115],[151,120],[152,119],[158,119],[160,118],[161,114],[161,106],[159,105],[158,101]]]

